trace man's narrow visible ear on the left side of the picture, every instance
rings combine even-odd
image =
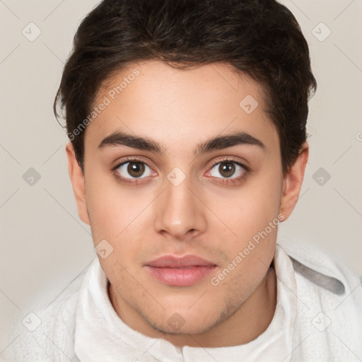
[[[87,223],[89,225],[84,174],[81,166],[78,164],[78,160],[76,160],[76,154],[71,142],[66,145],[66,156],[68,158],[69,177],[71,178],[71,185],[73,187],[74,196],[76,197],[78,215],[83,223]]]

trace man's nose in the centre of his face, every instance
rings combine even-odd
[[[165,190],[156,200],[155,229],[169,238],[185,240],[206,230],[206,206],[191,177],[180,185],[165,178]],[[168,235],[166,235],[168,234]]]

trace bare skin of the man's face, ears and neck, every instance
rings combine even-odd
[[[188,70],[155,60],[134,63],[100,88],[94,104],[134,69],[139,76],[86,128],[84,173],[71,143],[66,146],[78,214],[91,226],[94,245],[107,240],[113,247],[105,259],[99,257],[113,308],[129,327],[175,346],[245,344],[262,334],[274,315],[276,276],[269,266],[277,228],[217,286],[211,278],[279,214],[284,220],[290,216],[308,145],[284,177],[279,136],[262,88],[222,63]],[[259,103],[251,114],[239,106],[246,95]],[[157,141],[163,153],[122,145],[98,148],[115,131]],[[240,144],[194,156],[199,143],[235,131],[254,136],[264,148]],[[125,157],[144,162],[144,175],[132,177],[129,164],[112,171]],[[225,177],[219,166],[229,158],[250,170],[233,164],[235,173]],[[177,187],[167,178],[175,167],[185,174]],[[117,173],[136,182],[119,182]],[[245,177],[238,180],[240,175]],[[144,267],[165,254],[198,255],[217,267],[193,286],[168,286]],[[176,330],[170,318],[182,326]]]

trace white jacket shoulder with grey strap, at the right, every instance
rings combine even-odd
[[[362,357],[362,283],[346,265],[307,243],[284,243],[297,288],[295,355],[309,361]]]

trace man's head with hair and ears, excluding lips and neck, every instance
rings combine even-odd
[[[54,110],[79,216],[134,318],[195,334],[247,303],[298,200],[315,87],[276,1],[105,0],[83,19]],[[163,255],[214,268],[166,284],[148,270]]]

